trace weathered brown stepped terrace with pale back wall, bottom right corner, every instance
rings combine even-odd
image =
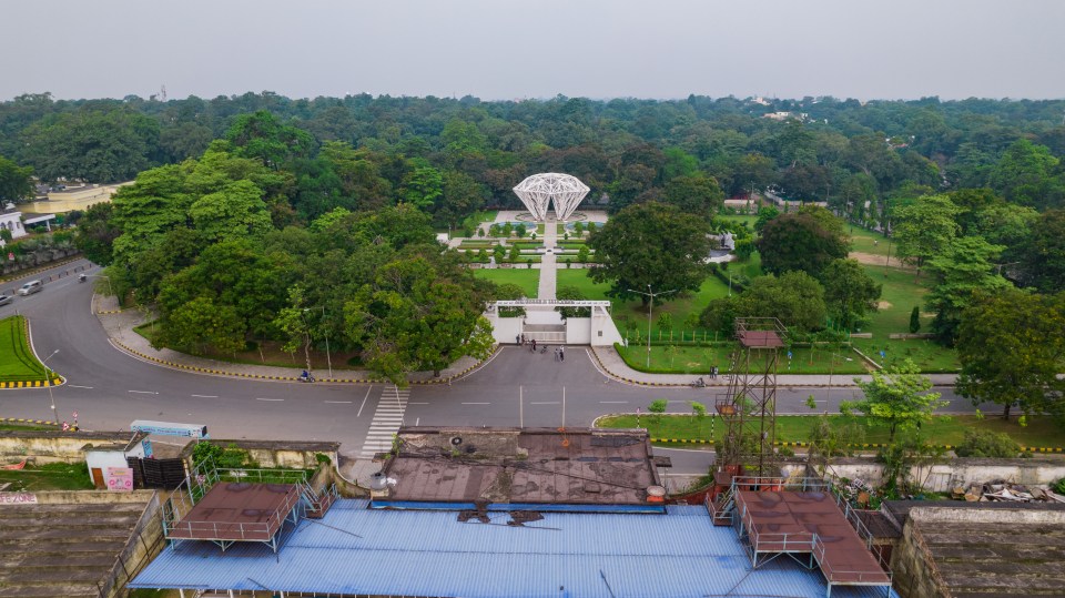
[[[892,562],[903,598],[1065,595],[1065,505],[911,503],[888,513],[905,518]]]

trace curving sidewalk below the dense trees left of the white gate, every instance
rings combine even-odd
[[[120,310],[116,297],[93,295],[92,312],[100,320],[100,324],[103,326],[104,332],[106,332],[112,345],[141,359],[173,369],[187,369],[217,376],[286,382],[296,381],[301,372],[303,372],[302,365],[276,367],[239,364],[195,357],[169,348],[155,349],[146,338],[133,332],[134,327],[149,321],[145,314],[138,310]],[[438,377],[434,377],[432,372],[415,372],[410,375],[410,384],[450,384],[450,382],[468,374],[480,364],[481,362],[473,357],[463,357],[452,364],[450,367],[442,371]],[[332,378],[329,378],[328,374],[323,369],[315,371],[314,374],[320,383],[359,384],[386,382],[362,369],[333,369]]]

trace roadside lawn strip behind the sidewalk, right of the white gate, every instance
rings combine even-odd
[[[687,339],[691,339],[693,333],[686,333]],[[696,332],[696,338],[702,341],[707,335],[708,341],[713,341],[713,333],[706,331]],[[674,339],[680,341],[680,331],[676,332]],[[651,333],[651,339],[656,341],[658,333]],[[642,337],[646,342],[646,336]],[[668,342],[669,336],[663,338]],[[647,345],[640,344],[635,336],[629,337],[628,347],[619,347],[618,354],[625,359],[625,363],[633,369],[640,372],[650,372],[656,374],[692,374],[706,375],[711,366],[718,366],[721,374],[727,374],[731,367],[731,356],[736,348],[733,343],[722,343],[713,346],[683,346],[673,345],[651,345],[651,367],[647,367]],[[839,374],[853,375],[866,374],[868,369],[864,362],[856,354],[842,349],[832,354],[829,351],[818,348],[793,348],[792,358],[789,359],[787,352],[781,352],[778,373],[780,374]],[[830,359],[832,359],[830,362]],[[758,371],[755,363],[752,369]]]

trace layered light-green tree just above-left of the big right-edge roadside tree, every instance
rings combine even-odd
[[[970,305],[974,293],[995,293],[1013,286],[993,265],[1003,249],[978,236],[963,236],[927,263],[935,285],[924,298],[935,312],[932,330],[942,343],[954,344],[962,311]]]

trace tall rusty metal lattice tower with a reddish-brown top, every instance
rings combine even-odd
[[[736,318],[728,394],[714,402],[728,432],[718,463],[733,473],[779,475],[777,452],[777,365],[788,330],[775,317]]]

